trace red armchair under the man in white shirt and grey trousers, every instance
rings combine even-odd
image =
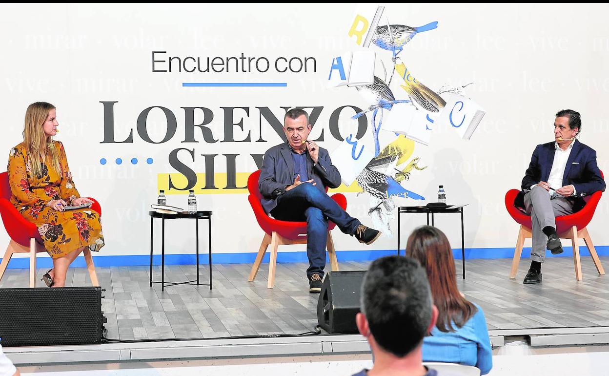
[[[600,172],[600,175],[603,176],[602,171]],[[512,260],[510,278],[516,278],[516,273],[518,273],[518,263],[520,261],[520,256],[523,253],[524,239],[532,237],[530,216],[524,214],[514,206],[514,199],[516,198],[516,194],[518,194],[518,192],[518,190],[509,190],[505,194],[505,208],[507,208],[507,212],[510,214],[510,216],[512,216],[514,221],[520,224],[518,241],[516,241],[516,249],[514,250],[514,258]],[[573,246],[573,261],[575,264],[575,276],[578,281],[583,279],[582,264],[579,257],[579,246],[577,244],[578,238],[583,238],[588,250],[590,250],[590,255],[592,257],[592,261],[594,261],[596,270],[601,275],[605,274],[605,270],[600,264],[599,255],[596,253],[596,249],[594,249],[594,244],[592,243],[590,234],[588,233],[588,230],[586,230],[586,226],[592,220],[594,210],[596,210],[596,206],[599,204],[600,196],[602,196],[602,192],[600,191],[597,191],[590,196],[586,196],[584,197],[586,205],[582,208],[582,210],[571,215],[556,217],[556,232],[558,234],[558,238],[571,239],[571,244]]]

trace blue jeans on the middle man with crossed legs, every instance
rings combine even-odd
[[[326,266],[326,240],[328,239],[328,219],[336,223],[340,231],[353,235],[361,225],[351,217],[328,194],[311,183],[301,183],[279,196],[277,206],[270,214],[280,221],[306,221],[306,254],[309,268],[306,275],[311,279],[313,273],[323,277]]]

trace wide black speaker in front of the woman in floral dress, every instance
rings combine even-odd
[[[102,288],[1,288],[0,345],[53,346],[102,341]]]

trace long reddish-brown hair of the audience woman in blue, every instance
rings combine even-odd
[[[438,330],[453,332],[465,325],[477,308],[459,293],[455,262],[446,235],[432,226],[418,227],[408,238],[406,256],[418,260],[427,271],[434,305],[438,308]]]

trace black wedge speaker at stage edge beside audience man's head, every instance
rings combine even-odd
[[[317,301],[317,322],[328,333],[357,332],[355,315],[365,271],[329,272]]]

